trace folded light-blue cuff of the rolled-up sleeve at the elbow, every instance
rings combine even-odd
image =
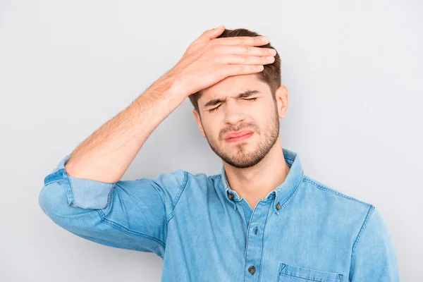
[[[52,182],[62,185],[66,190],[70,206],[83,209],[104,209],[107,207],[115,183],[104,183],[69,176],[65,164],[70,158],[71,154],[68,154],[61,159],[56,168],[44,178],[44,185]]]

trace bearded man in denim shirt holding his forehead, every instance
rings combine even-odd
[[[168,73],[44,178],[43,211],[96,243],[164,259],[162,281],[399,281],[379,211],[282,149],[288,90],[269,39],[207,30]],[[121,180],[186,97],[221,174]]]

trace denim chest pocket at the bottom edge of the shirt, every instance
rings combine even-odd
[[[278,282],[343,282],[343,274],[281,264]]]

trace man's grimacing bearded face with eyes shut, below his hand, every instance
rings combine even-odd
[[[207,105],[215,99],[222,102]],[[259,81],[256,74],[231,76],[202,90],[198,105],[201,118],[195,110],[194,114],[203,137],[223,161],[235,168],[255,166],[278,140],[281,104],[274,102],[269,85]],[[243,130],[252,134],[227,139],[229,134]]]

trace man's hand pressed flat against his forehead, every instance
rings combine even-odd
[[[210,87],[231,75],[245,75],[263,71],[265,64],[273,63],[276,50],[256,47],[269,43],[263,36],[225,37],[223,25],[206,30],[168,73],[185,97]]]

